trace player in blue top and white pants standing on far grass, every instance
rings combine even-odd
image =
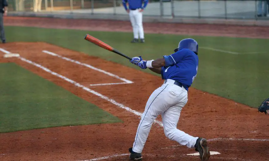
[[[126,6],[126,2],[129,4],[129,8]],[[142,4],[144,5],[142,7]],[[131,42],[145,42],[144,29],[142,24],[142,12],[148,4],[148,0],[122,0],[122,4],[127,13],[129,13],[130,21],[133,27],[134,39]]]

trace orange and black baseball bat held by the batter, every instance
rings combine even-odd
[[[124,55],[123,53],[119,52],[118,50],[114,49],[113,47],[109,46],[108,44],[104,43],[103,41],[93,37],[93,36],[90,36],[89,34],[86,34],[85,37],[84,37],[85,40],[87,41],[90,41],[91,43],[97,45],[97,46],[100,46],[108,51],[112,51],[116,54],[119,54],[121,56],[124,56],[125,58],[129,59],[129,60],[132,60],[132,58],[130,58],[129,56],[126,56]]]

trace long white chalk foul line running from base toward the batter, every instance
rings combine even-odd
[[[10,53],[9,51],[6,51],[6,50],[4,50],[4,49],[2,49],[2,48],[0,48],[0,51],[2,51],[2,52],[4,52],[4,53],[7,53],[7,54]],[[27,62],[27,63],[29,63],[29,64],[32,64],[32,65],[34,65],[34,66],[36,66],[36,67],[38,67],[38,68],[40,68],[40,69],[42,69],[42,70],[44,70],[44,71],[46,71],[46,72],[52,74],[52,75],[54,75],[54,76],[57,76],[57,77],[59,77],[59,78],[65,80],[65,81],[71,83],[71,84],[74,84],[75,86],[77,86],[77,87],[79,87],[79,88],[82,88],[83,90],[86,90],[86,91],[89,92],[89,93],[92,93],[92,94],[94,94],[94,95],[97,95],[97,96],[99,96],[100,98],[102,98],[102,99],[104,99],[104,100],[107,100],[107,101],[111,102],[112,104],[117,105],[117,106],[119,106],[120,108],[122,108],[122,109],[124,109],[124,110],[126,110],[126,111],[128,111],[128,112],[131,112],[131,113],[133,113],[133,114],[135,114],[135,115],[138,115],[138,116],[142,116],[142,113],[140,113],[140,112],[138,112],[138,111],[136,111],[136,110],[132,110],[131,108],[129,108],[129,107],[127,107],[127,106],[125,106],[125,105],[123,105],[123,104],[121,104],[121,103],[118,103],[118,102],[116,102],[115,100],[110,99],[109,97],[107,97],[107,96],[105,96],[105,95],[102,95],[102,94],[100,94],[100,93],[98,93],[98,92],[96,92],[96,91],[94,91],[94,90],[91,90],[91,89],[89,89],[88,87],[85,87],[84,85],[81,85],[81,84],[79,84],[78,82],[76,82],[76,81],[74,81],[74,80],[71,80],[71,79],[69,79],[69,78],[67,78],[67,77],[65,77],[65,76],[62,76],[62,75],[60,75],[60,74],[54,72],[54,71],[51,71],[51,70],[49,70],[48,68],[46,68],[46,67],[44,67],[44,66],[41,66],[40,64],[37,64],[37,63],[35,63],[35,62],[33,62],[33,61],[30,61],[30,60],[27,60],[27,59],[25,59],[25,58],[23,58],[23,57],[21,57],[21,56],[19,56],[18,59],[20,59],[20,60],[22,60],[22,61],[25,61],[25,62]],[[163,127],[163,123],[162,123],[161,121],[154,120],[154,123],[159,124],[161,127]]]

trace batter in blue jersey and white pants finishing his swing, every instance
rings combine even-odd
[[[133,147],[129,148],[132,160],[142,159],[142,150],[148,138],[151,125],[158,115],[162,116],[165,136],[185,145],[195,148],[202,161],[208,161],[210,152],[207,140],[193,137],[177,129],[180,112],[188,101],[188,88],[197,75],[198,43],[194,39],[183,39],[179,42],[175,53],[156,60],[145,61],[141,56],[133,57],[131,63],[142,69],[161,74],[164,84],[157,88],[148,99],[145,111],[138,125]]]

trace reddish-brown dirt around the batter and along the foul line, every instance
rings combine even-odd
[[[128,148],[134,141],[139,116],[52,75],[33,63],[140,113],[144,111],[151,92],[163,83],[160,77],[42,42],[16,42],[1,44],[0,47],[25,58],[22,61],[19,58],[7,59],[1,56],[0,62],[15,62],[124,121],[117,124],[56,127],[0,134],[0,160],[128,160]],[[94,66],[134,83],[90,86],[121,80],[46,54],[43,50]],[[2,54],[1,52],[0,55]],[[210,151],[220,153],[211,155],[211,160],[264,161],[269,158],[269,126],[264,124],[265,117],[268,116],[261,115],[257,109],[190,88],[189,102],[182,110],[178,128],[190,135],[209,139]],[[158,117],[157,120],[161,121],[161,118]],[[195,153],[194,149],[179,146],[166,139],[163,128],[159,124],[153,124],[143,150],[143,160],[199,160],[197,156],[185,155],[191,153]],[[108,157],[105,159],[106,156]]]

